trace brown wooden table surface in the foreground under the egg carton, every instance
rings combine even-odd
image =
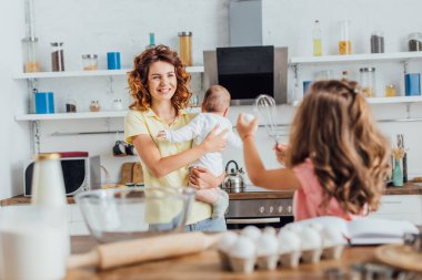
[[[72,252],[86,252],[94,246],[90,237],[72,237]],[[351,263],[373,261],[374,247],[346,248],[340,260],[323,260],[315,265],[300,265],[295,269],[278,268],[275,271],[255,270],[251,274],[223,271],[217,251],[180,258],[144,262],[111,270],[93,268],[69,270],[66,280],[132,280],[132,279],[324,279],[328,268],[346,270]]]

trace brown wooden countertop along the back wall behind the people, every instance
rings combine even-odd
[[[239,193],[229,194],[230,199],[288,199],[293,197],[294,190],[274,190],[264,193]],[[422,184],[409,182],[403,187],[386,187],[384,195],[422,195]],[[30,197],[16,196],[0,200],[1,206],[29,204]],[[73,197],[68,197],[69,204],[74,204]]]

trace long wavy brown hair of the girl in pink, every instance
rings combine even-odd
[[[390,145],[378,129],[355,82],[312,84],[294,116],[287,166],[311,158],[324,189],[320,207],[335,198],[346,212],[379,207],[390,174]]]

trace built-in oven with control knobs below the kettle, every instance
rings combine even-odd
[[[241,193],[229,193],[228,229],[247,226],[280,228],[293,221],[292,197],[293,190],[274,191],[254,186],[247,186]]]

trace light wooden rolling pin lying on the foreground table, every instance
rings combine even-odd
[[[203,251],[215,245],[220,235],[184,232],[99,245],[87,253],[72,255],[68,269],[94,266],[115,268],[147,260],[158,260]]]

